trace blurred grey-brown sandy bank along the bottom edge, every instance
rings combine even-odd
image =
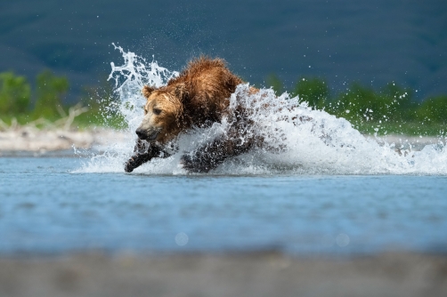
[[[447,256],[0,258],[1,296],[447,296]]]

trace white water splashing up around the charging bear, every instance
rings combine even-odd
[[[142,86],[159,87],[178,76],[176,71],[159,67],[155,60],[147,63],[134,52],[115,48],[122,53],[125,63],[123,66],[111,63],[109,78],[115,80],[119,112],[126,118],[129,138],[93,156],[78,172],[124,172],[124,163],[134,149],[134,130],[142,121],[141,107],[145,102]],[[240,84],[229,100],[230,108],[239,104],[249,110],[248,117],[264,145],[225,160],[211,173],[447,174],[447,149],[443,140],[420,151],[402,150],[402,154],[398,154],[395,149],[402,144],[365,138],[344,118],[313,110],[297,97],[290,98],[288,93],[277,97],[272,89],[263,88],[250,94],[249,85]],[[178,152],[164,159],[154,158],[134,172],[186,173],[179,165],[180,157],[224,133],[231,124],[229,121],[223,118],[222,123],[180,135],[175,140]]]

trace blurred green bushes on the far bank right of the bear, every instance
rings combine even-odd
[[[268,76],[266,83],[277,94],[286,91],[275,75]],[[413,90],[395,83],[374,90],[354,82],[344,92],[333,94],[324,79],[300,77],[288,92],[311,108],[344,117],[363,133],[440,135],[447,124],[447,95],[419,102]]]

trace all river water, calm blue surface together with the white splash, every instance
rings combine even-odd
[[[0,158],[0,253],[447,251],[445,137],[418,149],[405,138],[365,138],[271,89],[240,84],[229,99],[253,123],[241,135],[256,133],[263,147],[186,173],[180,158],[225,133],[232,117],[223,116],[179,135],[171,157],[124,173],[142,86],[178,72],[117,49],[124,64],[111,64],[118,100],[109,111],[124,116],[129,139],[101,153]]]

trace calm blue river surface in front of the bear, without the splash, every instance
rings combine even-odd
[[[79,173],[0,158],[0,253],[447,251],[447,177]]]

